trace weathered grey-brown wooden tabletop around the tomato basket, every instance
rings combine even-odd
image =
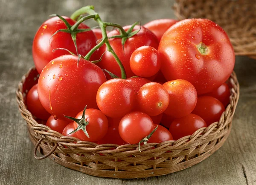
[[[256,184],[256,61],[247,57],[236,58],[241,92],[232,132],[223,147],[198,165],[147,179],[108,179],[33,157],[15,90],[33,66],[32,40],[48,15],[68,16],[81,6],[94,5],[103,20],[127,25],[175,18],[172,4],[173,0],[0,0],[0,185]]]

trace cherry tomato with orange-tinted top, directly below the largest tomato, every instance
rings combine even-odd
[[[195,87],[186,80],[173,80],[163,84],[169,93],[170,103],[164,113],[180,118],[194,110],[197,102]]]

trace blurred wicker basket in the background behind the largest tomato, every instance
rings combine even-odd
[[[236,55],[256,59],[256,2],[253,0],[176,0],[178,19],[207,18],[230,37]]]

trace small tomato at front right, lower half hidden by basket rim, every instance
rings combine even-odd
[[[195,114],[189,114],[182,118],[176,118],[172,121],[169,131],[173,139],[177,140],[184,136],[192,135],[196,130],[207,127],[204,119]]]

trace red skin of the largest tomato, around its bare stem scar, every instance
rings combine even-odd
[[[197,49],[200,43],[207,46],[207,55]],[[227,81],[235,64],[227,34],[207,19],[186,19],[170,27],[160,40],[158,52],[165,78],[187,80],[199,95]]]

